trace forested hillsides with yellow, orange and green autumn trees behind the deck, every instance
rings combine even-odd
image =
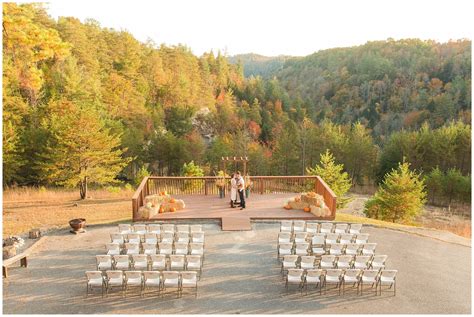
[[[215,175],[227,155],[249,156],[252,175],[301,175],[326,149],[354,183],[403,157],[426,175],[470,177],[470,41],[371,42],[246,78],[219,52],[55,21],[38,5],[3,9],[6,185],[128,182],[192,160]]]

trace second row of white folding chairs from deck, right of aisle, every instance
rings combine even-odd
[[[352,234],[352,233],[308,233],[308,232],[280,232],[278,234],[278,243],[290,242],[310,242],[313,244],[330,244],[330,243],[357,243],[363,244],[369,241],[368,233]]]

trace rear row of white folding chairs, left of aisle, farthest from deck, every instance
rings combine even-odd
[[[120,288],[122,296],[127,296],[127,290],[131,287],[140,290],[140,296],[143,296],[149,288],[155,288],[163,297],[163,291],[167,288],[176,289],[177,295],[182,296],[183,289],[194,289],[197,297],[197,272],[195,271],[120,271],[107,270],[105,274],[102,271],[86,271],[86,297],[93,288],[101,288],[102,297],[109,290]]]

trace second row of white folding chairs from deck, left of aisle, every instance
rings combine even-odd
[[[158,242],[202,242],[204,243],[204,232],[162,232],[161,234],[156,234],[153,232],[148,232],[144,234],[139,233],[111,233],[110,234],[110,241],[114,243],[126,243],[126,242],[133,242],[133,243],[158,243]]]

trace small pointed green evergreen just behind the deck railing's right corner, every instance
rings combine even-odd
[[[306,172],[309,175],[319,175],[326,182],[337,196],[337,208],[343,208],[350,201],[350,198],[345,195],[352,186],[351,178],[344,172],[343,164],[336,164],[329,150],[321,154],[319,165],[315,168],[307,168]]]

